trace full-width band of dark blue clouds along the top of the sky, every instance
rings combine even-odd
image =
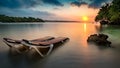
[[[39,5],[54,5],[54,6],[64,6],[71,2],[71,5],[80,7],[81,5],[88,4],[89,7],[99,8],[104,2],[109,2],[112,0],[0,0],[0,7],[6,8],[28,8]]]

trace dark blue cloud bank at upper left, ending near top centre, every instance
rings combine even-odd
[[[58,0],[0,0],[0,7],[6,8],[28,8],[41,4],[63,6]]]

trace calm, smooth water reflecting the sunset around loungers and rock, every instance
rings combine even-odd
[[[109,35],[114,48],[88,45],[94,33]],[[70,40],[45,58],[13,55],[2,38],[36,39],[65,36]],[[120,68],[120,28],[91,23],[0,24],[0,68]]]

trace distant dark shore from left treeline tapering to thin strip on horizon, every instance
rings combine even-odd
[[[0,23],[32,23],[32,22],[80,22],[80,21],[67,21],[67,20],[43,20],[34,17],[12,17],[6,15],[0,15]]]

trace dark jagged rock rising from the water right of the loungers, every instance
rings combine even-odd
[[[90,35],[87,39],[88,43],[95,43],[102,46],[110,46],[111,42],[107,40],[108,35],[105,34],[93,34]]]

